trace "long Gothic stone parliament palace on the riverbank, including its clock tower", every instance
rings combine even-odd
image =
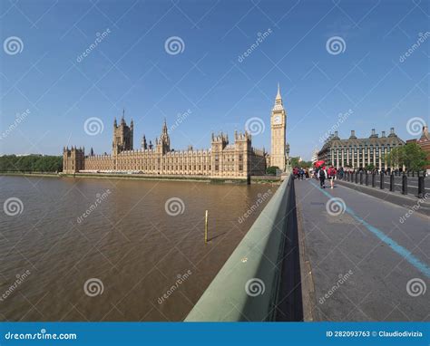
[[[162,176],[206,176],[210,178],[249,178],[266,173],[269,166],[285,169],[286,111],[283,108],[279,86],[271,114],[270,156],[265,149],[251,145],[248,131],[235,131],[234,142],[229,135],[212,133],[210,149],[171,149],[171,139],[164,120],[160,138],[148,144],[145,136],[140,149],[133,147],[133,121],[127,125],[124,115],[118,124],[113,121],[111,155],[94,155],[93,149],[85,155],[84,149],[64,147],[63,172],[75,173],[139,173]]]

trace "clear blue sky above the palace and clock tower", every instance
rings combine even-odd
[[[429,31],[428,1],[2,1],[0,153],[61,154],[64,145],[110,152],[112,121],[134,120],[134,146],[155,139],[162,120],[191,115],[171,132],[171,146],[210,147],[210,131],[243,130],[252,117],[266,129],[253,146],[270,148],[269,116],[280,82],[292,156],[312,149],[352,110],[338,131],[358,137],[429,120],[429,42],[400,58]],[[78,62],[109,29],[101,43]],[[268,31],[271,31],[269,33]],[[269,34],[248,57],[239,56]],[[18,53],[5,41],[16,36]],[[183,52],[167,53],[179,36]],[[344,51],[328,53],[341,37]],[[22,48],[22,51],[21,51]],[[8,48],[13,50],[12,48]],[[8,53],[7,53],[7,52]],[[14,54],[15,53],[15,54]],[[90,117],[103,132],[83,130]]]

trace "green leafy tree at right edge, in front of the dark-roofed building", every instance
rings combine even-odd
[[[420,170],[427,164],[425,151],[416,143],[407,143],[404,146],[391,149],[385,159],[389,166],[402,167],[407,170]]]

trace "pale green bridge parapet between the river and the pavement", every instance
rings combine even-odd
[[[292,184],[288,174],[186,322],[275,320]]]

